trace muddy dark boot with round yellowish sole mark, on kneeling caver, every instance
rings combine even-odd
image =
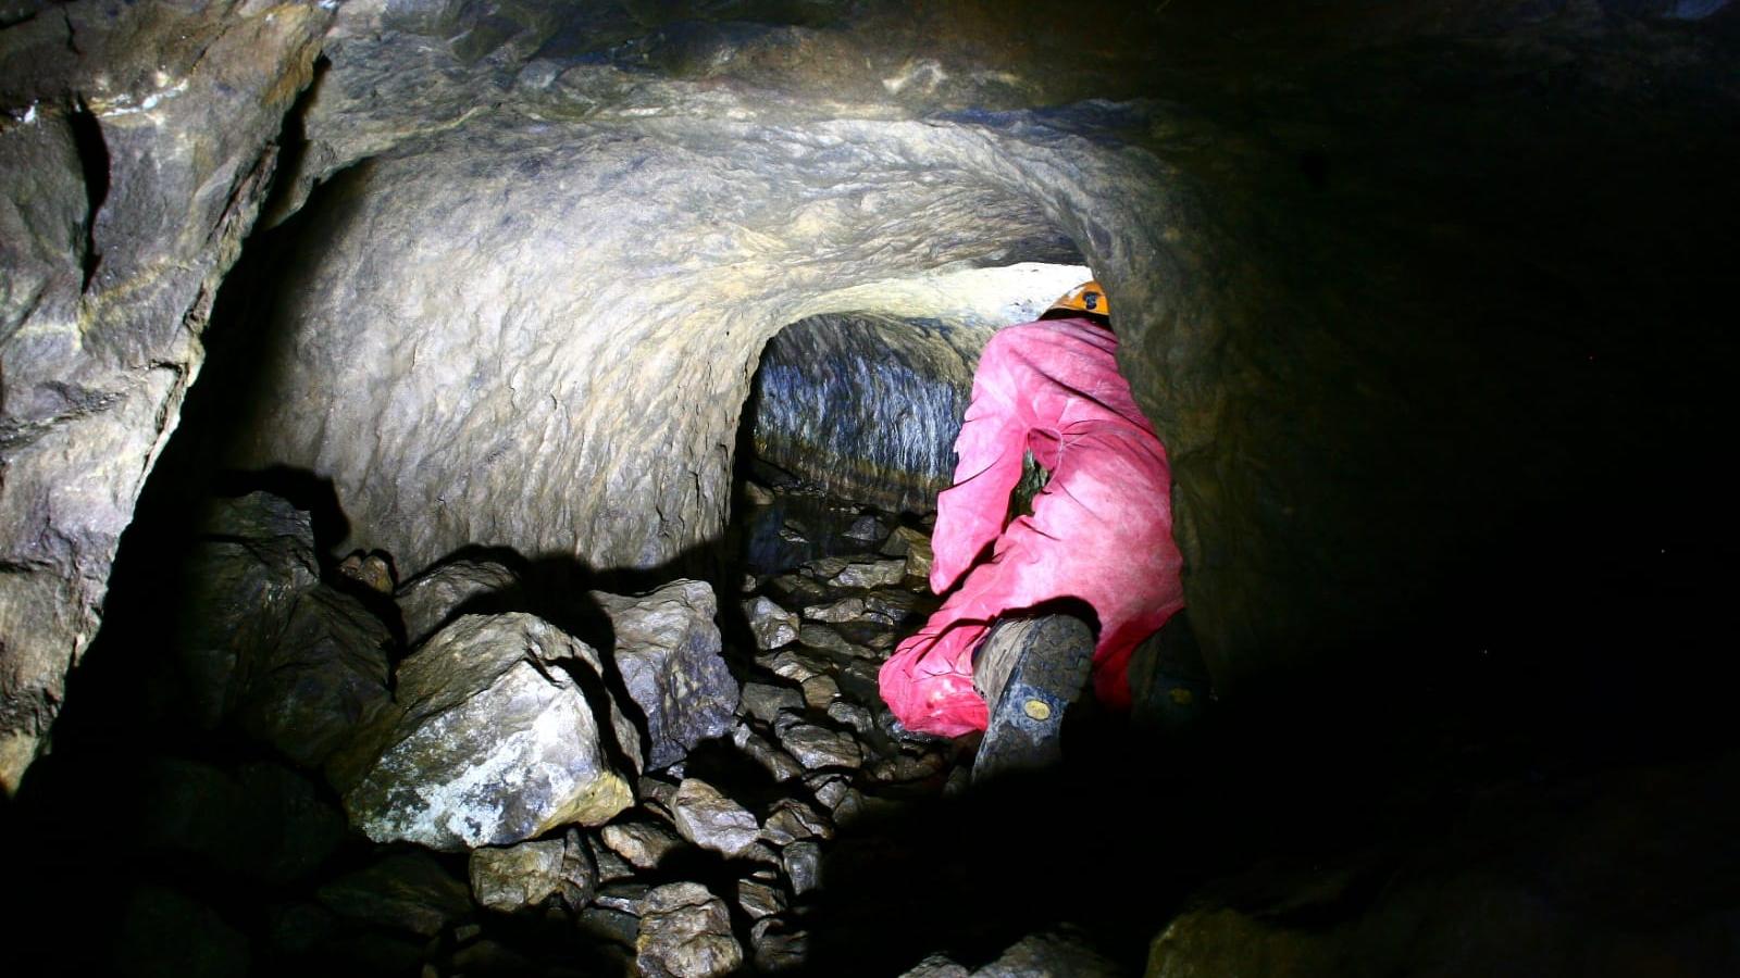
[[[973,759],[973,783],[1063,760],[1063,715],[1088,689],[1093,630],[1070,614],[1002,620],[973,663],[990,724]]]

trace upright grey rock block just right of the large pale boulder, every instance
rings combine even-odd
[[[738,680],[719,656],[719,604],[705,581],[673,581],[639,597],[592,592],[611,620],[611,658],[647,731],[647,769],[682,760],[731,729]]]

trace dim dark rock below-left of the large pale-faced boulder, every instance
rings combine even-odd
[[[426,853],[383,856],[317,891],[327,910],[350,921],[430,936],[472,908],[465,884]]]

